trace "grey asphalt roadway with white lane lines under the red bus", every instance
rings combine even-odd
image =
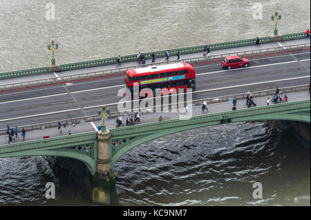
[[[223,70],[220,62],[194,65],[196,90],[193,100],[290,87],[310,82],[310,50],[249,57],[249,67]],[[35,123],[97,114],[97,106],[117,103],[124,76],[0,93],[0,129],[9,124]],[[95,107],[94,107],[95,106]],[[110,106],[117,112],[117,106]],[[36,117],[32,117],[36,116]]]

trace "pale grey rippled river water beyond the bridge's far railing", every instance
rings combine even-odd
[[[55,19],[46,19],[47,3]],[[0,0],[0,10],[0,72],[50,65],[51,39],[60,44],[57,63],[72,63],[270,36],[276,11],[279,34],[310,28],[309,0]]]

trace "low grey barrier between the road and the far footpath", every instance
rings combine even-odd
[[[221,60],[223,60],[223,57],[226,57],[229,54],[236,54],[239,56],[241,56],[241,55],[247,56],[247,55],[251,54],[252,56],[259,56],[259,55],[265,55],[265,54],[272,54],[273,52],[291,52],[291,51],[296,51],[296,50],[310,49],[310,46],[301,46],[301,47],[297,46],[296,48],[289,48],[289,47],[290,46],[274,47],[274,48],[279,48],[280,50],[276,50],[276,49],[275,50],[269,50],[270,48],[267,48],[267,49],[258,48],[258,50],[266,50],[266,51],[265,52],[254,52],[254,50],[246,50],[246,51],[241,51],[241,52],[231,52],[231,53],[226,53],[226,54],[214,55],[216,58],[213,58],[213,59],[207,58],[207,57],[194,57],[191,59],[198,59],[198,60],[197,61],[191,61],[191,59],[183,59],[182,61],[186,62],[186,63],[190,63],[190,64],[197,64],[197,63],[201,63],[202,61],[210,61],[210,62],[221,61]],[[243,53],[243,54],[241,54],[241,53]],[[202,58],[202,59],[200,59],[200,58]],[[176,61],[176,62],[180,62],[180,61]],[[160,62],[160,63],[164,64],[164,63],[170,63],[170,62]],[[159,63],[154,63],[154,64],[159,65]],[[111,69],[111,70],[89,72],[88,74],[86,74],[86,73],[73,74],[73,75],[68,75],[68,76],[62,77],[64,79],[55,79],[57,77],[53,77],[53,78],[48,78],[48,79],[41,79],[41,80],[45,81],[45,82],[41,82],[41,83],[39,82],[40,81],[40,79],[39,79],[39,80],[35,80],[35,81],[38,81],[38,83],[32,83],[31,85],[29,85],[28,81],[25,81],[25,82],[21,82],[21,83],[16,83],[17,85],[20,85],[20,86],[12,86],[12,87],[7,87],[7,88],[2,88],[1,91],[19,89],[19,88],[32,88],[35,86],[55,85],[55,84],[60,84],[60,83],[70,83],[70,81],[83,80],[83,79],[110,77],[110,76],[113,76],[115,74],[125,74],[125,72],[126,72],[125,69],[126,68],[124,68],[124,70],[120,70],[120,68],[118,68],[118,69],[115,69],[115,71],[113,71],[114,69]],[[96,74],[97,72],[102,72],[102,74]],[[94,73],[94,74],[92,74],[92,73]],[[85,74],[85,76],[84,76],[84,74]],[[79,75],[79,77],[75,77],[77,75]],[[28,83],[28,86],[23,85],[25,83]],[[8,85],[12,85],[12,84],[14,85],[15,83],[10,83]]]

